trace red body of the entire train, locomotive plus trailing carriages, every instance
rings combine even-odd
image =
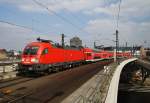
[[[25,52],[27,50],[28,52]],[[51,43],[32,42],[25,47],[21,63],[24,65],[55,64],[108,59],[113,56],[114,53],[109,51],[94,51],[90,48],[82,48],[80,50],[63,49],[54,47]],[[117,56],[130,58],[131,53],[118,53]]]

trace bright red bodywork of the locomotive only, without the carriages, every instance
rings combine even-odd
[[[85,60],[84,51],[63,49],[52,46],[50,43],[44,42],[33,42],[28,44],[26,48],[38,47],[36,55],[25,54],[22,55],[22,64],[34,64],[31,59],[36,58],[39,64],[53,64],[53,63],[63,63],[63,62],[75,62]],[[44,49],[47,49],[47,53],[43,53]]]

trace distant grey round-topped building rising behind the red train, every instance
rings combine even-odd
[[[79,37],[73,37],[70,39],[70,46],[71,47],[81,47],[82,46],[82,40],[80,40]]]

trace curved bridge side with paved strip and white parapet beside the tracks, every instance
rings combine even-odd
[[[143,74],[145,76],[146,74],[149,75],[150,63],[143,60],[132,58],[120,63],[113,63],[105,66],[103,71],[97,73],[77,91],[63,100],[62,103],[118,103],[119,82],[122,72],[129,64],[142,67],[141,70],[145,71],[142,71]],[[136,70],[139,69],[133,69],[133,71]],[[145,76],[142,77],[145,78]],[[143,81],[143,78],[141,81]]]

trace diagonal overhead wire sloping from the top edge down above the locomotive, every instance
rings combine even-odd
[[[76,24],[72,23],[71,21],[69,21],[68,19],[66,19],[65,17],[57,14],[55,11],[49,9],[47,6],[45,6],[43,3],[38,2],[37,0],[32,0],[33,2],[35,2],[37,5],[45,8],[49,13],[53,13],[55,16],[57,16],[58,18],[60,18],[61,20],[67,22],[68,24],[72,25],[73,27],[75,27],[76,29],[89,34],[87,31],[83,30],[82,28],[78,27]]]

